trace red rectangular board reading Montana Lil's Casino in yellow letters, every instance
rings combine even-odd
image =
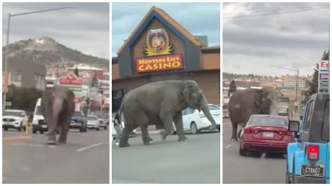
[[[138,73],[151,71],[168,71],[183,69],[182,55],[162,55],[158,57],[143,57],[136,59]]]

